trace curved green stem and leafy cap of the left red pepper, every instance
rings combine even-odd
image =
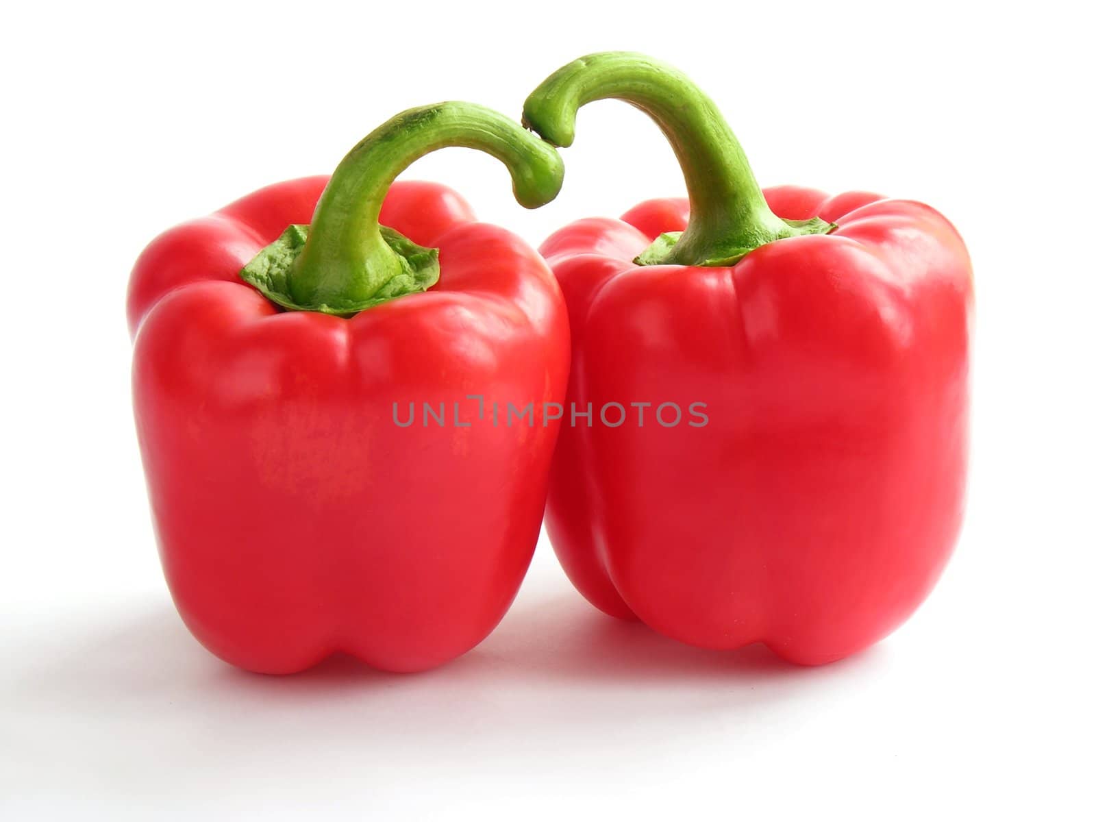
[[[339,163],[311,226],[289,226],[240,276],[279,306],[341,317],[426,290],[441,276],[437,249],[416,246],[377,220],[400,172],[448,146],[479,149],[505,163],[514,196],[526,208],[555,199],[563,183],[556,149],[498,112],[457,102],[410,109]]]

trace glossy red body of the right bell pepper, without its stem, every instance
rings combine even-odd
[[[548,534],[595,606],[695,646],[762,641],[831,662],[898,627],[959,532],[967,470],[970,260],[932,208],[853,192],[765,192],[838,224],[733,267],[636,266],[686,199],[580,220],[541,253],[567,299],[568,402]],[[630,225],[629,225],[630,224]],[[676,402],[677,427],[605,402]],[[689,427],[706,402],[709,423]],[[670,411],[667,419],[672,419]],[[617,414],[610,414],[610,421]]]

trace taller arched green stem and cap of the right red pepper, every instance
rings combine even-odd
[[[636,258],[638,264],[733,265],[769,242],[836,228],[817,217],[784,220],[773,214],[716,104],[677,69],[644,55],[606,52],[563,66],[525,101],[523,123],[567,147],[579,109],[608,98],[631,103],[658,124],[688,190],[688,228],[659,237]]]

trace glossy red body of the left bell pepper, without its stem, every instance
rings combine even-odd
[[[421,182],[397,182],[381,221],[441,248],[436,286],[349,320],[281,311],[238,272],[309,220],[326,182],[251,194],[137,261],[134,406],[160,556],[191,631],[235,665],[346,652],[420,671],[510,606],[557,435],[539,418],[477,423],[466,396],[561,401],[567,317],[533,249]],[[411,401],[415,424],[397,426],[392,403],[406,420]],[[446,426],[421,425],[423,401],[446,403]],[[453,402],[471,425],[452,424]]]

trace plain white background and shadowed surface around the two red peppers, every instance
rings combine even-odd
[[[3,12],[0,817],[1092,819],[1091,4],[373,5]],[[160,575],[133,260],[174,222],[332,169],[404,107],[516,116],[559,65],[613,48],[688,72],[763,184],[924,199],[964,235],[973,472],[943,582],[875,649],[807,670],[603,617],[543,538],[500,628],[436,672],[227,667]],[[583,110],[564,160],[534,213],[482,155],[409,176],[533,243],[683,192],[620,103]]]

